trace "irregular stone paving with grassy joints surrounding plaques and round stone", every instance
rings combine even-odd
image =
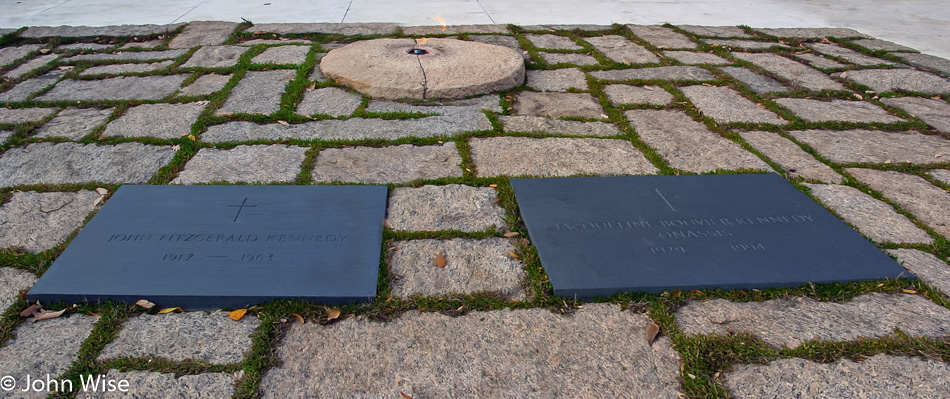
[[[0,374],[23,384],[91,370],[128,379],[143,397],[947,392],[950,61],[840,28],[396,28],[192,22],[6,33]],[[506,46],[524,56],[526,80],[451,102],[367,98],[320,72],[353,35]],[[508,184],[737,172],[782,175],[922,282],[580,305],[544,288]],[[265,305],[234,321],[92,306],[35,323],[18,316],[28,306],[21,291],[118,185],[245,183],[390,185],[376,310],[330,318],[320,305],[302,316]],[[390,304],[408,311],[375,314]],[[661,326],[652,344],[651,322]],[[733,359],[715,345],[737,340],[767,355],[703,368],[709,356]]]

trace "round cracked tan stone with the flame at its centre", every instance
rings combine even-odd
[[[412,48],[428,51],[412,55]],[[375,39],[331,50],[320,71],[365,96],[457,99],[524,82],[524,60],[508,47],[454,39]]]

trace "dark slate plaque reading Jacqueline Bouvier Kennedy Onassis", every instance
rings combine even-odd
[[[559,296],[914,278],[772,173],[511,185]]]

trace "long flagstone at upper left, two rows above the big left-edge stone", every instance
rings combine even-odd
[[[36,98],[39,101],[161,100],[181,87],[188,75],[120,76],[102,80],[67,79]]]

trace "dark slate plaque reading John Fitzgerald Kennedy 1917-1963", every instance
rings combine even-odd
[[[376,296],[384,186],[122,186],[27,294],[192,309]]]

